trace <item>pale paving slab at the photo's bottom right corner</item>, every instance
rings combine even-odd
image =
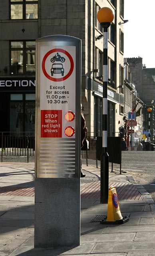
[[[105,242],[96,243],[91,253],[108,253],[108,252],[131,252],[133,250],[150,250],[155,249],[155,242]],[[142,256],[143,254],[141,254]]]

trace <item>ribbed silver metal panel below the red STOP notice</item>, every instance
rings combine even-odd
[[[40,139],[38,178],[64,177],[75,174],[76,140],[53,138]]]

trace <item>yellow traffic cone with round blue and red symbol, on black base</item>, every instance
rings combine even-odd
[[[108,205],[107,205],[107,218],[101,220],[101,224],[123,224],[129,220],[128,217],[122,217],[117,192],[114,187],[109,189]]]

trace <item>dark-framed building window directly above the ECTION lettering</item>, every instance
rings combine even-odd
[[[11,75],[35,74],[36,70],[36,42],[12,41],[11,48]]]

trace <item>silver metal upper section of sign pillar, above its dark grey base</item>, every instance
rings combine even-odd
[[[36,178],[79,178],[81,40],[45,36],[36,49]]]

